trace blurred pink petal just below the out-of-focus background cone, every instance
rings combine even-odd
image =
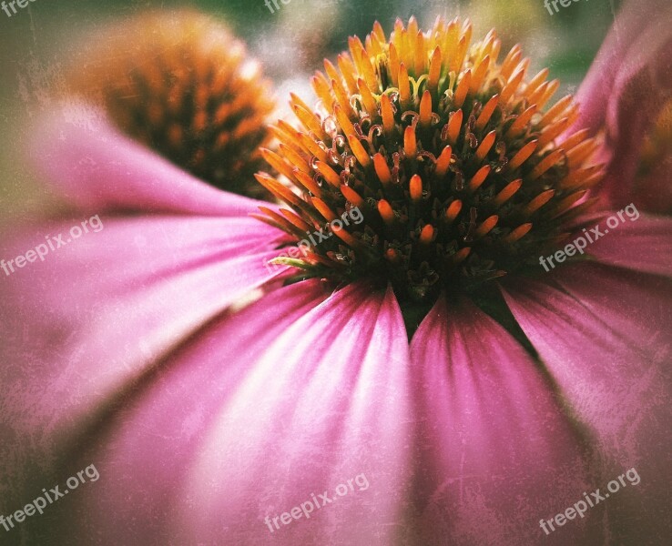
[[[87,112],[87,106],[83,106]],[[244,216],[265,203],[211,187],[117,132],[101,114],[59,112],[36,127],[30,161],[68,203],[93,214],[142,210]]]

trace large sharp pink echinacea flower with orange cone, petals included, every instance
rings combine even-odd
[[[258,202],[109,129],[47,133],[61,138],[46,138],[46,171],[82,212],[144,214],[10,278],[12,430],[42,444],[19,454],[101,476],[32,536],[663,543],[672,223],[641,214],[592,260],[545,272],[540,256],[618,212],[586,191],[612,163],[591,162],[605,148],[571,128],[571,97],[546,107],[546,71],[527,76],[518,47],[499,60],[494,32],[471,33],[376,25],[326,63],[321,106],[293,98],[300,126],[280,123],[264,152],[284,179],[258,178],[287,203],[262,206],[272,227],[240,217]],[[669,53],[657,44],[647,62]],[[363,220],[345,225],[353,207]],[[295,245],[300,258],[277,258]],[[56,354],[54,329],[20,349],[20,319],[74,332]],[[540,518],[630,468],[636,488],[545,535]],[[362,474],[366,490],[334,497]],[[310,517],[280,516],[322,494]]]

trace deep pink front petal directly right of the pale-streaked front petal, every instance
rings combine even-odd
[[[467,300],[439,301],[411,359],[421,446],[414,543],[597,543],[597,513],[549,536],[539,525],[589,482],[549,384],[501,326]]]

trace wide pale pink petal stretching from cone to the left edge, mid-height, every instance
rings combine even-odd
[[[5,279],[2,353],[26,368],[14,405],[34,407],[20,417],[27,429],[46,417],[69,428],[278,275],[265,267],[277,254],[278,230],[253,218],[103,221],[98,233]],[[21,251],[35,245],[28,242]]]

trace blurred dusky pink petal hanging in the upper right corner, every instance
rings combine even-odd
[[[635,174],[644,136],[672,97],[671,24],[667,0],[626,2],[577,93],[575,129],[606,128],[612,159],[603,191],[611,207],[643,205]],[[669,209],[672,200],[661,206]]]

